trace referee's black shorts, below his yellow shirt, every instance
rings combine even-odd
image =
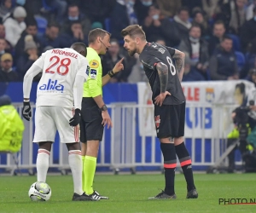
[[[80,141],[102,141],[104,127],[102,125],[102,111],[96,105],[93,98],[83,98],[81,121],[80,121]]]

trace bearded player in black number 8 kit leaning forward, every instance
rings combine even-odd
[[[164,156],[166,187],[149,199],[176,199],[174,176],[177,158],[187,181],[187,199],[197,199],[191,158],[183,142],[186,100],[180,82],[183,78],[185,54],[159,43],[148,43],[145,32],[138,25],[127,26],[121,34],[128,54],[140,55],[153,91],[154,121]]]

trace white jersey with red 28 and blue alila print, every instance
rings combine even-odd
[[[43,70],[38,83],[37,107],[73,107],[73,85],[76,75],[88,78],[88,61],[77,51],[50,49],[35,61]]]

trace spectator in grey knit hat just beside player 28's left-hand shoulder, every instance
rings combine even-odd
[[[32,35],[26,35],[24,53],[17,60],[17,72],[20,79],[23,79],[26,71],[38,59],[38,47]],[[38,76],[36,76],[38,78]],[[36,78],[35,77],[35,78]]]

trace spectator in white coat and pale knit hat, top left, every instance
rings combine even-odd
[[[22,7],[16,7],[14,13],[7,18],[3,25],[5,26],[5,39],[15,47],[20,39],[21,33],[26,29],[26,10]]]

